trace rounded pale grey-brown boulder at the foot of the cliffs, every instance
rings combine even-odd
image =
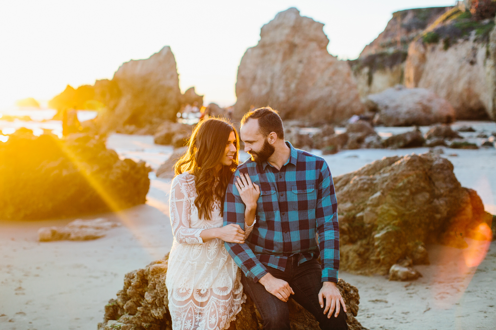
[[[367,97],[369,110],[377,112],[375,125],[426,126],[449,123],[455,118],[454,110],[444,99],[423,88],[407,89],[399,85]]]

